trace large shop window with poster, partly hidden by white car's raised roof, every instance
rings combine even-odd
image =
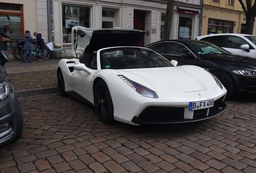
[[[71,31],[74,26],[91,28],[91,7],[62,5],[63,47],[70,47]]]

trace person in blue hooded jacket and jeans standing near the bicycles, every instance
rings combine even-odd
[[[34,48],[32,43],[34,43],[34,39],[30,35],[29,30],[25,31],[25,36],[23,37],[23,40],[24,40],[24,48],[23,48],[24,60],[22,61],[22,63],[26,63],[27,52],[29,53],[29,62],[32,62],[32,49]]]

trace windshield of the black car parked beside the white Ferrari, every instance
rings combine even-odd
[[[231,54],[223,48],[208,42],[187,42],[187,44],[201,56],[206,56],[209,54]]]

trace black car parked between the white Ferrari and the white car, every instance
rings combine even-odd
[[[200,66],[214,74],[227,89],[226,99],[235,94],[256,93],[256,58],[234,55],[201,40],[165,40],[145,46],[179,65]]]

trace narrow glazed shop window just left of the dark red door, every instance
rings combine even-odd
[[[102,28],[114,28],[115,10],[102,10]]]

